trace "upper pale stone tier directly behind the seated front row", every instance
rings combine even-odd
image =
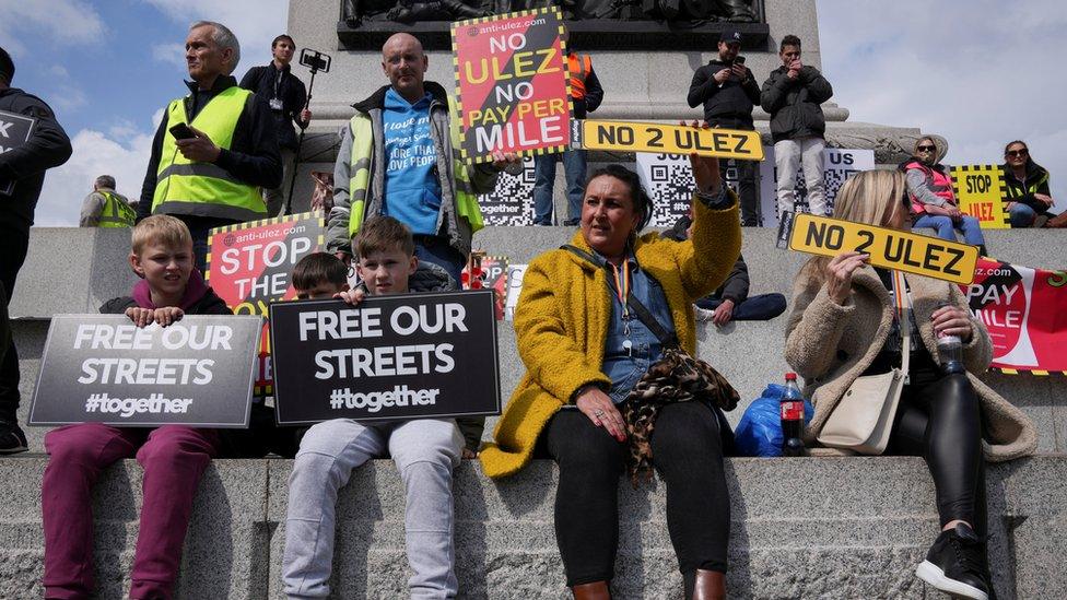
[[[506,256],[513,264],[526,263],[568,242],[574,231],[486,227],[476,235],[474,247]],[[1056,261],[1067,256],[1067,236],[1053,230],[992,231],[987,232],[987,239],[997,258],[1028,267],[1059,269],[1063,264]],[[20,422],[25,423],[28,414],[48,319],[61,313],[95,313],[105,301],[126,295],[137,281],[126,267],[128,245],[129,233],[117,230],[33,230],[30,256],[11,304],[22,364]],[[60,257],[51,251],[58,246],[69,247],[70,254]],[[742,254],[749,266],[752,294],[778,292],[789,297],[793,278],[805,260],[802,255],[775,248],[773,232],[760,228],[744,230]],[[68,282],[66,293],[55,293],[57,281]],[[786,318],[783,315],[771,321],[736,322],[726,329],[708,323],[697,326],[700,356],[719,369],[741,396],[741,403],[727,415],[735,425],[764,387],[781,383],[789,370],[783,356]],[[501,323],[499,339],[501,390],[506,401],[524,368],[511,321]],[[1041,451],[1067,452],[1067,377],[987,373],[983,379],[1033,419]],[[495,419],[488,420],[486,439],[494,424]],[[31,428],[27,435],[31,449],[43,451],[44,431]]]

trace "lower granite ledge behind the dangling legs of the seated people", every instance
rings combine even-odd
[[[39,598],[46,458],[0,459],[0,597]],[[281,598],[292,461],[219,460],[198,491],[181,598]],[[141,470],[106,470],[94,494],[101,596],[128,589]],[[912,576],[937,533],[918,458],[729,459],[731,598],[927,598]],[[566,598],[555,545],[555,468],[535,461],[494,482],[456,473],[456,554],[464,598]],[[990,564],[1001,599],[1055,598],[1067,586],[1067,457],[990,466]],[[619,598],[676,598],[681,577],[661,483],[620,482]],[[400,598],[403,490],[391,461],[357,469],[339,497],[333,597]]]

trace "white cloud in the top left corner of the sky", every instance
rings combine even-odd
[[[105,35],[99,13],[82,0],[0,1],[0,45],[15,56],[26,52],[31,38],[73,45],[98,43]]]

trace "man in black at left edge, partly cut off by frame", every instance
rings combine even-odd
[[[15,66],[0,48],[0,110],[34,119],[30,139],[8,139],[10,125],[0,129],[0,302],[7,307],[19,269],[30,248],[30,226],[45,183],[45,170],[70,158],[70,139],[56,116],[40,98],[11,87]],[[0,121],[3,121],[0,115]],[[7,190],[10,186],[10,192]],[[7,309],[2,310],[7,316]],[[4,323],[7,325],[7,323]],[[7,329],[7,327],[3,327]],[[26,450],[26,436],[19,428],[19,355],[10,337],[0,343],[0,455]]]

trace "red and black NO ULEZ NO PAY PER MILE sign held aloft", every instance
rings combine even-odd
[[[571,143],[570,77],[559,9],[537,9],[452,25],[460,154],[561,152]]]

